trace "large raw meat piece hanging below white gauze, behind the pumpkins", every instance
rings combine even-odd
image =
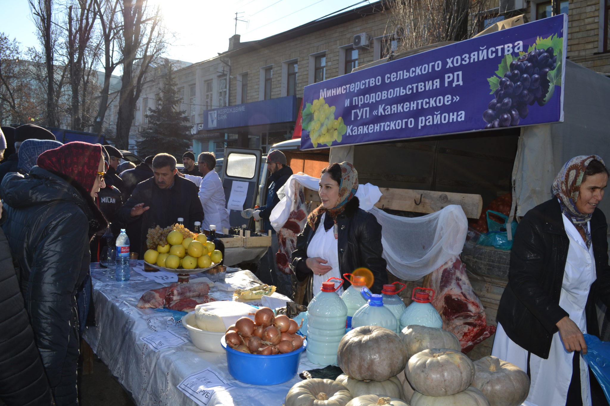
[[[495,333],[495,326],[487,326],[485,309],[470,285],[459,256],[432,272],[429,287],[436,292],[432,306],[443,319],[443,329],[459,338],[462,352],[470,351]]]

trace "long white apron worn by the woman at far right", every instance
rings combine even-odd
[[[584,307],[587,304],[591,284],[597,279],[593,245],[587,250],[583,237],[580,236],[573,223],[565,215],[562,215],[562,219],[564,220],[565,233],[570,240],[570,246],[565,261],[559,306],[570,315],[570,319],[576,323],[581,331],[586,333],[587,321]],[[590,229],[589,223],[587,223],[587,226]],[[514,363],[523,371],[527,371],[528,352],[508,338],[500,323],[498,323],[493,341],[492,355]],[[531,386],[524,405],[565,405],[570,380],[572,379],[573,355],[573,352],[565,351],[559,332],[553,335],[547,360],[531,354],[529,359]],[[590,406],[589,368],[583,357],[580,357],[580,378],[583,405]]]

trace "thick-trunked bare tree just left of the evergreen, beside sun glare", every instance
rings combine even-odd
[[[129,147],[129,131],[134,121],[135,103],[151,63],[165,51],[165,30],[160,9],[151,10],[148,0],[123,0],[123,80],[118,104],[117,147]]]

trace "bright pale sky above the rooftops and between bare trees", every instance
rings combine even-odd
[[[237,33],[254,41],[284,32],[345,7],[361,7],[375,0],[150,0],[160,4],[165,25],[176,34],[167,57],[188,62],[207,60],[224,52],[235,33],[235,12],[241,12]],[[352,7],[353,8],[353,7]],[[21,43],[23,51],[38,47],[27,0],[0,0],[0,32]]]

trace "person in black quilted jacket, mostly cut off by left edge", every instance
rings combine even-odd
[[[51,388],[34,342],[34,331],[19,289],[9,242],[1,228],[0,303],[0,404],[50,405]]]

